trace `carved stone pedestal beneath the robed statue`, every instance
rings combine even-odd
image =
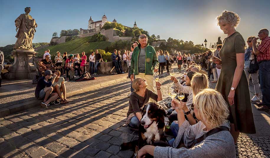
[[[37,54],[34,49],[16,49],[11,52],[14,56],[14,64],[8,68],[9,73],[5,75],[8,79],[33,79],[36,68],[32,57]]]

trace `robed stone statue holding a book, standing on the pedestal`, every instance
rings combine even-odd
[[[31,8],[26,7],[24,9],[25,14],[21,14],[15,20],[16,26],[16,36],[17,41],[15,43],[14,49],[34,49],[32,45],[32,40],[34,38],[34,34],[36,32],[37,23],[35,19],[29,15]]]

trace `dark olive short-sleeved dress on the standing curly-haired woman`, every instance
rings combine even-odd
[[[229,109],[229,121],[235,125],[235,130],[243,133],[256,133],[253,113],[251,108],[248,80],[243,70],[241,79],[235,89],[234,104],[230,106],[228,95],[233,83],[233,76],[236,63],[236,54],[245,52],[245,40],[239,32],[235,32],[223,41],[222,48],[219,52],[222,68],[220,77],[217,81],[216,90],[225,98]],[[243,61],[244,62],[244,61]]]

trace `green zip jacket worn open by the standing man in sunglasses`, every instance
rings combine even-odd
[[[130,65],[130,75],[138,75],[138,58],[140,55],[140,44],[138,47],[135,47],[131,57],[131,65]],[[158,62],[157,54],[155,48],[150,46],[149,44],[146,46],[145,51],[145,75],[153,75],[153,68]]]

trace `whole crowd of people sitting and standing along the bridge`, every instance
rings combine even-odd
[[[162,147],[145,145],[138,151],[138,157],[145,154],[155,157],[205,157],[205,151],[210,158],[236,157],[235,144],[239,133],[256,133],[251,101],[256,102],[258,110],[270,110],[269,31],[261,29],[258,32],[260,45],[257,44],[258,38],[248,37],[246,47],[242,35],[235,30],[240,22],[238,14],[223,11],[217,20],[227,37],[222,45],[217,45],[214,52],[192,55],[177,52],[177,56],[170,55],[168,51],[163,53],[163,50],[156,52],[154,47],[148,44],[148,37],[145,34],[139,36],[138,42],[133,42],[131,51],[125,51],[123,60],[127,63],[131,80],[126,123],[132,128],[140,126],[142,109],[146,103],[163,100],[161,82],[154,81],[154,73],[158,72],[163,76],[166,67],[169,75],[170,65],[173,63],[177,63],[179,71],[186,71],[180,80],[173,75],[170,78],[174,83],[175,93],[179,90],[185,93],[184,99],[173,98],[171,103],[166,105],[168,107],[166,115],[170,120],[169,127],[174,139],[163,142]],[[44,66],[43,68],[50,62],[50,55],[44,55],[44,59],[39,63],[41,67]],[[62,58],[59,52],[55,62],[58,64],[58,61],[65,60],[67,76],[69,71],[77,70],[81,73],[85,71],[83,65],[87,57],[84,52],[82,57],[79,54],[75,58],[73,55],[64,57]],[[101,55],[96,50],[96,54],[92,52],[89,60],[91,73],[97,74],[97,67],[102,60]],[[112,63],[117,73],[124,73],[121,60],[120,51],[114,50]],[[68,102],[64,78],[61,78],[60,74],[60,71],[53,74],[50,70],[46,70],[38,81],[35,96],[43,99],[42,107],[47,107],[58,97],[59,103]],[[209,89],[211,75],[212,83],[217,83],[215,89]],[[252,99],[248,88],[250,78],[256,93]],[[258,80],[263,95],[262,101],[258,95]]]

